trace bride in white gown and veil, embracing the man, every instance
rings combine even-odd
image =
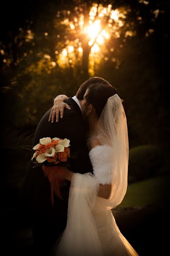
[[[56,167],[56,177],[70,180],[71,186],[67,226],[57,239],[55,256],[138,256],[111,212],[127,191],[129,144],[122,102],[111,86],[93,84],[85,92],[81,107],[93,174]]]

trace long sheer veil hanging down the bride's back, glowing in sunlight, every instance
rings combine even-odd
[[[109,159],[112,173],[111,194],[109,199],[103,200],[102,198],[101,202],[108,209],[120,204],[127,191],[129,142],[127,120],[122,102],[123,100],[117,94],[111,96],[97,124],[96,137],[102,145],[111,147]]]

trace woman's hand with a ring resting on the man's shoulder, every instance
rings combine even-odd
[[[54,117],[56,116],[56,122],[58,122],[59,119],[59,113],[60,113],[60,117],[63,117],[64,114],[64,108],[67,108],[69,110],[71,110],[71,108],[68,106],[67,103],[64,102],[65,99],[68,99],[68,97],[66,95],[63,96],[57,96],[54,99],[54,105],[51,108],[51,112],[50,112],[50,116],[48,119],[48,122],[54,122]]]

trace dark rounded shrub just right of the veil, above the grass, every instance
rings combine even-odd
[[[163,164],[163,154],[156,145],[140,145],[129,150],[128,182],[155,177]]]

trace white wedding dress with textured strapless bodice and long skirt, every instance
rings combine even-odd
[[[110,152],[108,145],[92,148],[89,157],[93,174],[73,175],[67,226],[57,240],[55,256],[139,256],[120,232],[109,199],[97,196],[99,184],[109,184],[113,179]]]

